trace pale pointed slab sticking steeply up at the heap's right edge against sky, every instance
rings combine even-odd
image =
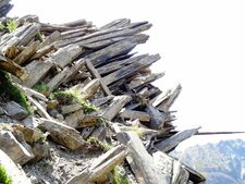
[[[181,84],[176,85],[175,88],[171,90],[169,98],[162,101],[162,103],[159,105],[158,109],[166,112],[169,111],[170,107],[174,103],[175,99],[181,94]]]

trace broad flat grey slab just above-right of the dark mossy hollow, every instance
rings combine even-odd
[[[49,72],[49,70],[53,66],[53,63],[50,61],[38,61],[35,60],[30,62],[25,69],[29,74],[29,77],[26,82],[23,84],[27,87],[33,87],[35,84],[37,84],[46,74]]]

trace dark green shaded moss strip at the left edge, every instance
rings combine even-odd
[[[29,114],[33,114],[33,109],[26,100],[24,93],[12,83],[11,75],[3,71],[0,71],[0,94],[4,95],[7,99],[16,101]]]

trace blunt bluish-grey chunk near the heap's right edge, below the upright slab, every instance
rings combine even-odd
[[[166,116],[159,112],[159,110],[155,109],[152,106],[148,106],[146,111],[150,115],[150,127],[154,130],[160,130],[163,127],[166,122]]]

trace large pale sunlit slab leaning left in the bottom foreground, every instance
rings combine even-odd
[[[169,184],[169,181],[155,165],[154,158],[147,152],[135,132],[128,131],[117,134],[118,139],[130,149],[133,158],[136,180],[144,184]]]

